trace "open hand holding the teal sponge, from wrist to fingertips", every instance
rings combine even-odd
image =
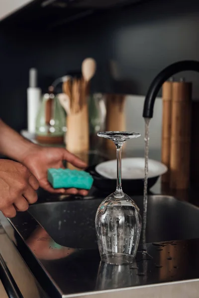
[[[39,181],[39,185],[51,193],[80,194],[86,196],[88,191],[71,189],[53,189],[47,180],[49,168],[64,168],[63,160],[66,160],[78,168],[85,168],[87,165],[74,154],[64,148],[48,148],[34,146],[23,158],[22,163],[31,171]]]

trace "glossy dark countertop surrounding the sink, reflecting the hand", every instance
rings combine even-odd
[[[150,192],[175,195],[198,205],[197,190],[174,194],[159,180]],[[88,199],[99,196],[93,188]],[[65,199],[40,191],[38,201],[50,204]],[[0,215],[0,221],[49,297],[104,297],[104,293],[108,298],[198,297],[199,239],[140,244],[134,264],[113,266],[100,263],[98,250],[80,251],[58,245],[28,212],[18,213],[12,220]]]

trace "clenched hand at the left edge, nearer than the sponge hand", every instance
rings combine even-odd
[[[0,159],[0,211],[8,218],[37,201],[37,179],[21,163]]]

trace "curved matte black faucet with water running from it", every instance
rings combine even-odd
[[[146,94],[143,117],[152,118],[153,117],[153,107],[157,94],[162,86],[162,84],[169,79],[172,75],[183,72],[183,71],[196,71],[199,73],[199,61],[186,60],[176,62],[166,67],[162,72],[160,72],[152,81],[148,92]]]

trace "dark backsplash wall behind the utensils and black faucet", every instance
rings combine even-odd
[[[54,78],[80,69],[83,59],[92,56],[98,63],[94,91],[145,94],[162,68],[179,60],[199,60],[199,1],[151,0],[51,32],[3,28],[0,45],[0,114],[20,130],[26,127],[30,67],[38,68],[44,90]],[[110,60],[116,62],[116,81],[110,79]],[[194,98],[199,98],[199,75],[183,75],[194,82]]]

